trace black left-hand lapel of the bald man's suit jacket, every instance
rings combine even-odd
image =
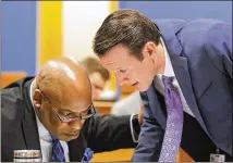
[[[29,97],[30,84],[32,80],[26,82],[23,86],[23,100],[25,103],[22,106],[25,106],[25,116],[22,120],[22,125],[27,149],[40,149],[35,112]]]

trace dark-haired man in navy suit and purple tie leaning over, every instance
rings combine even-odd
[[[119,83],[136,87],[144,123],[132,161],[233,161],[232,26],[216,20],[158,20],[119,10],[94,51]],[[220,154],[220,155],[218,155]]]

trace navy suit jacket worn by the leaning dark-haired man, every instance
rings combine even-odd
[[[232,26],[214,20],[158,20],[156,24],[184,98],[196,118],[194,121],[185,113],[182,148],[195,161],[209,161],[209,152],[214,150],[208,145],[199,146],[209,138],[233,155]],[[145,101],[144,124],[132,160],[158,161],[167,123],[164,99],[154,84],[142,92],[142,98]],[[206,140],[199,135],[203,138],[206,135]]]

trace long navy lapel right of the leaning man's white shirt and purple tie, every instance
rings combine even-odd
[[[188,106],[191,108],[192,112],[194,113],[196,120],[203,126],[205,131],[209,134],[196,103],[196,99],[192,88],[187,60],[186,58],[181,57],[183,48],[181,47],[176,38],[176,33],[179,33],[179,30],[181,29],[181,24],[182,22],[170,26],[168,23],[157,22],[157,25],[162,33],[162,39],[164,40],[174,70],[175,77],[179,82],[184,98]]]

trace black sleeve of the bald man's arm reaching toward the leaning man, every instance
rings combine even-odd
[[[130,127],[131,115],[98,115],[88,124],[88,147],[94,152],[135,148]]]

